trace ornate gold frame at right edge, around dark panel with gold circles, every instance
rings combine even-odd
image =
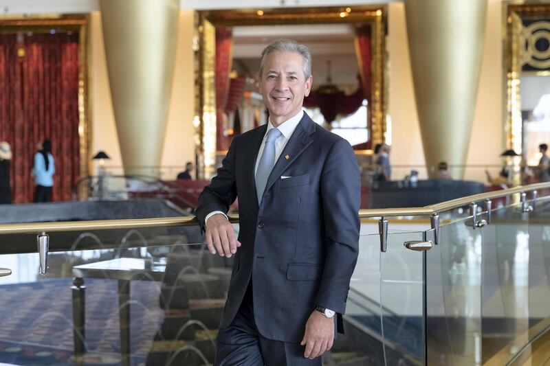
[[[521,76],[521,33],[524,19],[540,19],[550,17],[549,3],[529,3],[514,1],[504,4],[505,10],[505,134],[506,148],[522,151],[522,117],[520,100],[520,76]]]

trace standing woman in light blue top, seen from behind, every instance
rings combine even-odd
[[[42,150],[36,152],[36,155],[34,155],[34,184],[36,185],[34,202],[52,201],[55,172],[52,141],[45,139],[42,144]]]

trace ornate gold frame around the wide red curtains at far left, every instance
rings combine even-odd
[[[0,27],[2,32],[6,31],[50,31],[56,30],[78,32],[78,136],[80,138],[80,177],[88,176],[91,172],[91,161],[89,160],[89,148],[91,146],[91,134],[89,126],[88,108],[88,27],[89,16],[87,15],[48,15],[48,16],[0,16]],[[79,198],[87,194],[86,187],[78,192]]]

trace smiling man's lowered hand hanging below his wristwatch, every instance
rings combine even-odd
[[[334,341],[334,318],[327,318],[317,310],[311,313],[305,324],[304,356],[311,360],[329,351]]]

